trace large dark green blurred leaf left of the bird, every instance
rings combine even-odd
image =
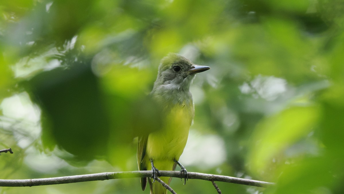
[[[44,114],[45,145],[54,149],[53,139],[84,160],[107,152],[109,121],[97,78],[87,65],[43,72],[30,80],[30,88]]]

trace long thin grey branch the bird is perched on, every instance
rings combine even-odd
[[[184,178],[178,171],[160,171],[161,176]],[[39,185],[55,185],[65,183],[78,183],[86,181],[103,181],[117,178],[135,178],[135,177],[151,177],[152,171],[129,171],[129,172],[105,172],[96,174],[84,174],[74,176],[62,176],[53,178],[36,178],[36,179],[19,179],[19,180],[6,180],[0,179],[0,186],[9,187],[23,187],[23,186],[39,186]],[[236,183],[243,185],[251,185],[257,187],[267,187],[274,185],[274,183],[255,181],[245,178],[236,178],[231,176],[222,176],[214,174],[203,174],[189,172],[189,179],[200,179],[206,181],[220,181],[227,183]]]

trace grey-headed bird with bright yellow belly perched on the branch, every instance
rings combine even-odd
[[[159,65],[158,77],[150,93],[151,98],[162,108],[162,127],[147,136],[139,137],[137,161],[139,170],[152,169],[152,178],[141,178],[142,191],[147,179],[152,194],[165,194],[166,188],[155,182],[160,170],[175,170],[178,164],[187,178],[187,171],[178,162],[183,153],[189,128],[195,115],[190,85],[196,73],[210,69],[195,65],[189,59],[169,53]],[[171,177],[161,177],[170,184]],[[185,184],[184,181],[184,184]]]

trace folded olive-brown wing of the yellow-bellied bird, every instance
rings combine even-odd
[[[138,142],[137,142],[137,165],[139,166],[140,171],[147,170],[147,166],[143,161],[144,156],[146,155],[147,140],[148,140],[148,136],[142,136],[142,137],[139,137]],[[142,191],[144,191],[147,185],[147,177],[140,178],[140,181],[141,181]]]

